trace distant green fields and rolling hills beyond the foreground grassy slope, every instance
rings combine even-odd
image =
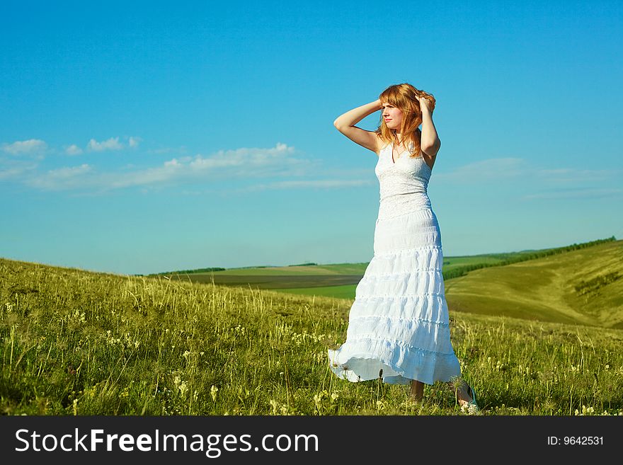
[[[623,328],[622,244],[612,238],[557,249],[444,257],[448,306],[451,312]],[[512,263],[517,260],[524,261]],[[367,265],[309,264],[171,276],[352,301]],[[457,271],[458,277],[452,277]]]

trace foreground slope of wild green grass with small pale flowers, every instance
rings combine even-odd
[[[349,299],[0,259],[0,410],[9,415],[462,415],[437,383],[328,368]],[[451,312],[485,415],[623,413],[623,331]]]

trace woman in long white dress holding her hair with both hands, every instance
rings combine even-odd
[[[411,384],[416,402],[423,398],[424,384],[447,381],[462,409],[478,413],[474,390],[460,379],[450,343],[441,233],[427,192],[441,145],[434,109],[432,95],[396,84],[377,101],[333,122],[379,157],[375,173],[381,195],[375,254],[355,289],[346,342],[328,350],[329,363],[333,373],[349,381],[382,377],[388,384]],[[378,110],[376,131],[355,126]]]

